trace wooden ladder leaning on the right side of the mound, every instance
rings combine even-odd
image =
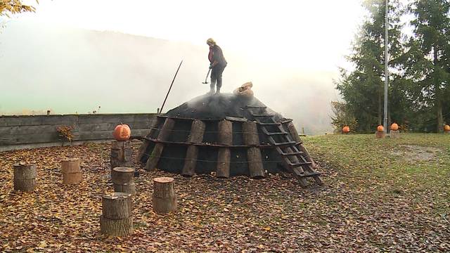
[[[247,106],[250,114],[255,117],[260,129],[266,134],[269,142],[282,157],[283,164],[300,182],[300,186],[307,187],[307,178],[312,177],[317,184],[322,185],[321,173],[314,170],[313,162],[308,161],[309,154],[302,151],[302,142],[294,141],[290,132],[285,131],[280,122],[276,122],[274,115],[266,111],[265,106]],[[257,111],[258,112],[255,112]],[[270,131],[269,131],[270,130]]]

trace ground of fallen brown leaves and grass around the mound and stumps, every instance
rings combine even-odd
[[[325,186],[284,175],[191,179],[143,171],[135,180],[134,234],[100,234],[107,144],[0,153],[3,252],[449,252],[450,135],[304,138]],[[136,147],[135,147],[136,148]],[[60,160],[82,159],[84,180],[65,186]],[[37,164],[33,193],[13,191],[15,162]],[[153,213],[152,179],[175,178],[179,209]]]

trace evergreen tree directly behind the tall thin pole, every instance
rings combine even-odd
[[[368,17],[361,25],[360,34],[356,39],[352,54],[347,59],[354,63],[354,70],[347,72],[340,70],[340,80],[335,82],[343,99],[351,108],[356,121],[357,131],[370,132],[375,126],[383,123],[384,107],[384,79],[385,79],[385,1],[364,1],[368,10]],[[398,0],[389,3],[389,67],[395,70],[399,65],[397,58],[403,53],[401,44],[400,17],[403,8]],[[391,73],[390,101],[398,103],[390,108],[390,115],[399,117],[399,122],[406,115],[403,110],[408,101],[404,99],[404,86],[406,83],[401,72]],[[395,84],[395,85],[392,85]]]

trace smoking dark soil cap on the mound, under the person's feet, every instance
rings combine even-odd
[[[236,96],[233,93],[220,93],[219,95],[202,95],[169,110],[169,117],[185,117],[194,119],[224,119],[225,117],[241,117],[254,119],[245,108],[247,105],[266,106],[255,97]],[[274,113],[276,120],[283,116],[266,109],[269,113]],[[257,112],[257,110],[254,110]]]

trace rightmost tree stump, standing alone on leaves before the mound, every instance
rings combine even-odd
[[[153,211],[166,214],[176,210],[174,179],[160,177],[153,179]]]

